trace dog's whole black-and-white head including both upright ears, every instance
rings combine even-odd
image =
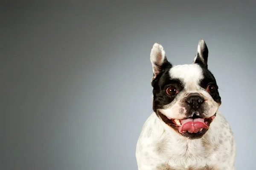
[[[177,133],[201,138],[221,105],[218,86],[207,66],[208,48],[204,40],[192,64],[172,66],[159,43],[151,49],[153,67],[153,110]]]

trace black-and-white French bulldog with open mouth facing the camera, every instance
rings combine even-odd
[[[235,170],[233,131],[218,110],[221,97],[199,40],[190,64],[173,66],[154,43],[153,113],[136,145],[138,170]]]

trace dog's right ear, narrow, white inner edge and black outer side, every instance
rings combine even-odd
[[[203,39],[199,40],[198,50],[195,55],[193,63],[198,63],[199,65],[207,68],[207,60],[208,60],[208,48]]]

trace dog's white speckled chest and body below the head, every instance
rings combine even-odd
[[[179,135],[152,113],[136,149],[138,170],[235,170],[235,157],[233,132],[219,111],[207,133],[193,140]]]

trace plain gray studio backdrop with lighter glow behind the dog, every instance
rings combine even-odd
[[[191,63],[204,38],[220,110],[236,135],[236,168],[252,170],[255,5],[1,1],[0,169],[137,169],[153,43],[176,65]]]

